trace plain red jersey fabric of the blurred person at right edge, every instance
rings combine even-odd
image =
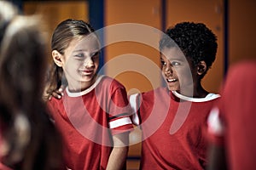
[[[218,108],[224,122],[224,147],[233,170],[256,167],[255,88],[255,62],[242,62],[230,68]]]

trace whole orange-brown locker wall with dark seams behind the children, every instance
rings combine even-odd
[[[114,38],[132,32],[132,28],[126,30],[127,27],[120,27],[125,29],[115,30],[110,29],[115,28],[111,26],[120,26],[119,24],[123,23],[132,23],[132,26],[137,24],[149,32],[152,29],[154,35],[181,21],[205,23],[218,36],[217,59],[203,80],[204,87],[215,93],[218,93],[218,88],[230,65],[243,59],[256,59],[253,50],[256,37],[254,0],[13,0],[13,2],[19,5],[24,14],[42,14],[50,33],[61,20],[67,18],[89,21],[96,29],[109,28],[104,30],[102,35],[102,40],[107,44],[103,49],[102,71],[122,82],[128,94],[148,91],[163,84],[160,72],[153,69],[154,65],[160,65],[159,51],[154,48],[160,36],[144,36],[150,43],[155,42],[154,45],[129,41],[129,38],[115,42]],[[136,31],[135,29],[134,32]],[[143,59],[146,62],[143,62]],[[128,67],[133,69],[122,69]],[[148,77],[148,74],[152,77]],[[138,168],[139,138],[139,131],[131,134],[133,145],[129,152],[128,169]]]

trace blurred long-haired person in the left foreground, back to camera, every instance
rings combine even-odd
[[[61,137],[42,99],[42,25],[8,2],[0,6],[0,169],[62,169]]]

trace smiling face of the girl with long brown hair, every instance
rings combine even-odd
[[[79,90],[89,88],[95,82],[99,66],[100,46],[95,35],[74,38],[64,51],[63,71],[68,88]]]

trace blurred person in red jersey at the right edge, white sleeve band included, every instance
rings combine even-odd
[[[232,65],[208,118],[209,170],[256,167],[256,61]]]

